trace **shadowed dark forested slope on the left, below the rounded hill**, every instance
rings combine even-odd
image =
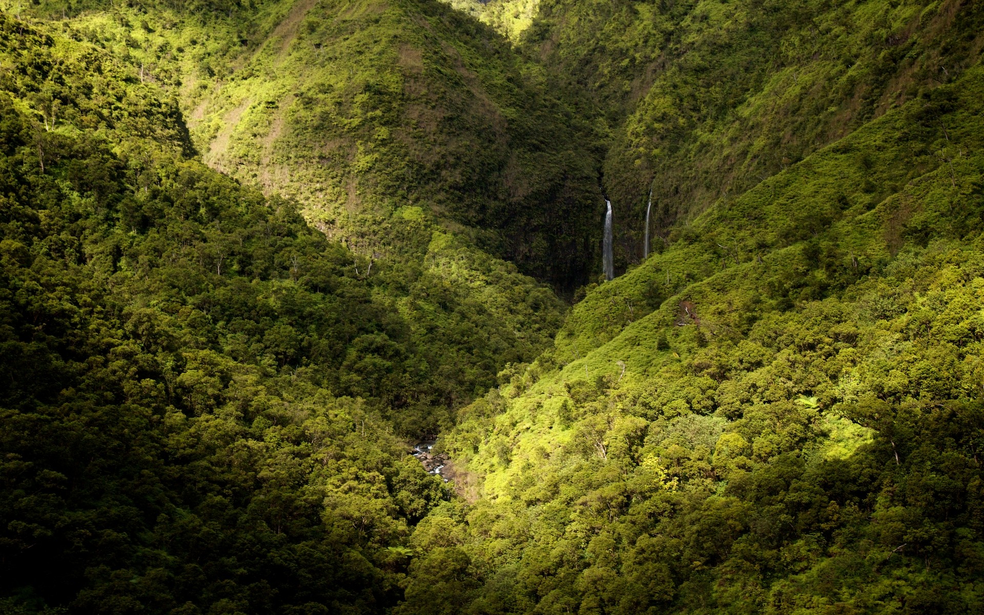
[[[416,208],[368,270],[65,33],[0,14],[0,609],[384,612],[450,497],[398,435],[561,306]]]

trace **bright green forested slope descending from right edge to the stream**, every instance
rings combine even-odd
[[[977,66],[590,290],[446,436],[474,502],[415,529],[402,612],[442,612],[435,577],[475,613],[979,610],[982,92]]]

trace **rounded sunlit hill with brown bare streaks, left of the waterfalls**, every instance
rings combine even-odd
[[[101,5],[72,23],[171,84],[210,165],[296,199],[356,253],[399,251],[386,222],[414,206],[562,290],[593,266],[592,128],[541,69],[440,3]]]

